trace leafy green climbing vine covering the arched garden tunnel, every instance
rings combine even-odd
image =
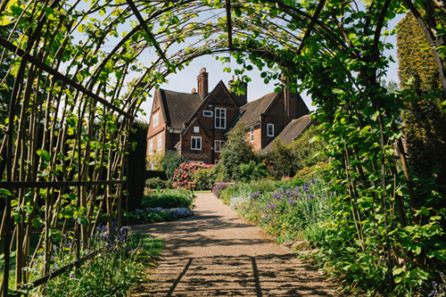
[[[51,271],[53,244],[68,227],[78,233],[73,251],[80,256],[80,243],[87,244],[101,219],[120,223],[126,155],[133,145],[128,133],[141,103],[170,73],[203,54],[219,54],[227,71],[246,82],[256,67],[266,83],[277,81],[277,89],[286,80],[291,91],[312,96],[328,144],[328,176],[339,197],[319,259],[343,272],[351,289],[426,290],[446,260],[446,213],[423,202],[443,205],[444,198],[415,191],[402,141],[408,94],[388,94],[381,79],[392,59],[384,55],[392,47],[386,37],[394,34],[389,21],[408,8],[425,11],[415,17],[433,48],[444,102],[444,45],[434,41],[444,33],[445,13],[427,2],[432,5],[2,2],[0,82],[8,92],[0,95],[9,111],[2,111],[0,123],[5,205],[0,235],[4,250],[13,251],[4,253],[3,292],[11,256],[14,289],[20,289],[37,278],[29,268],[40,252],[42,276]],[[31,250],[35,229],[41,233]]]

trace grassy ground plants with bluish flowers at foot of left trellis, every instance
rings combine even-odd
[[[74,233],[67,233],[52,249],[52,272],[76,260]],[[130,227],[112,229],[105,225],[97,227],[89,239],[81,257],[91,252],[95,256],[73,266],[41,288],[27,289],[22,285],[21,293],[31,296],[127,296],[128,291],[140,281],[148,279],[145,269],[153,266],[153,257],[158,256],[164,243],[150,235],[138,235]],[[45,257],[37,251],[33,266],[28,270],[29,280],[40,276]]]

